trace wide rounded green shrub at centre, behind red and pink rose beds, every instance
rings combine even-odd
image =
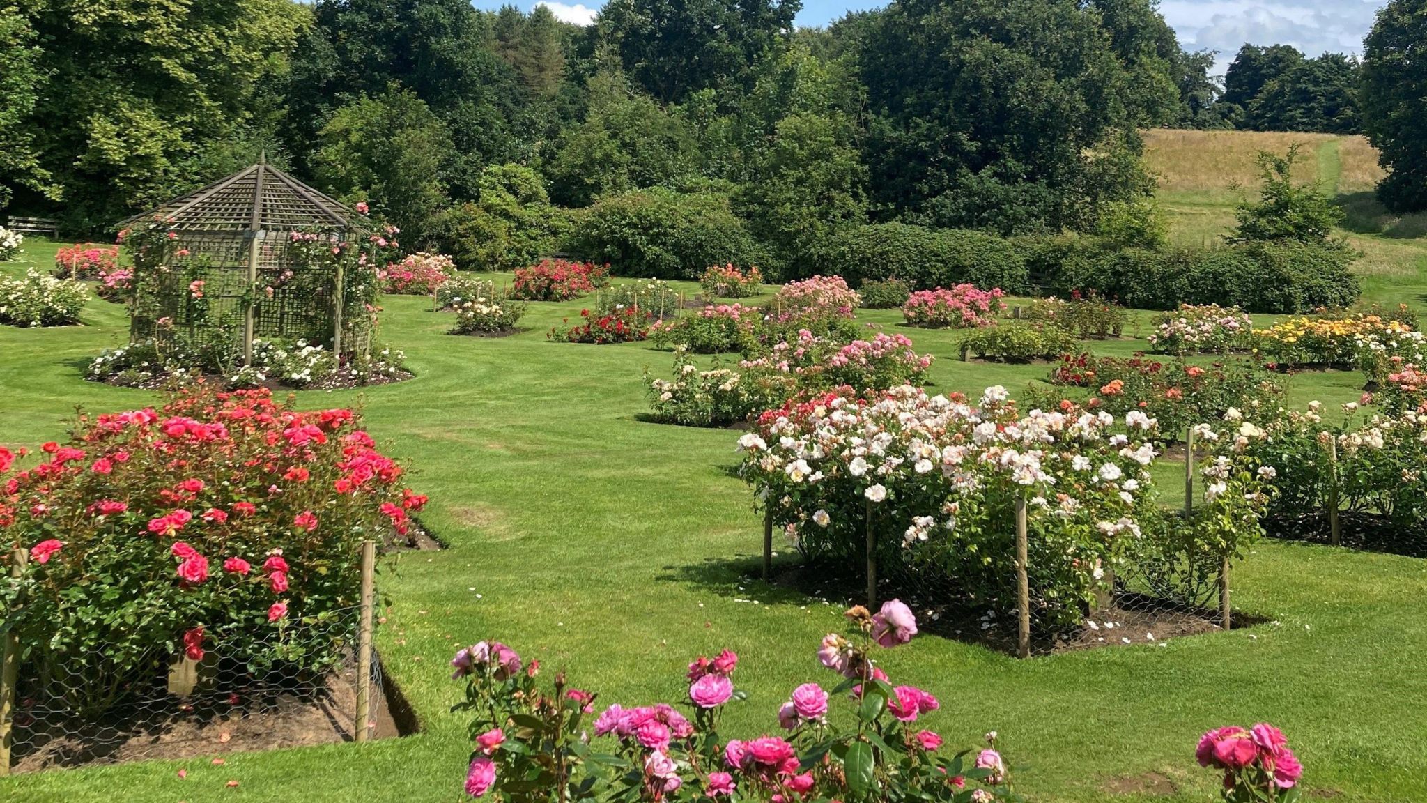
[[[711,264],[768,264],[722,193],[662,187],[605,196],[582,210],[572,251],[621,276],[695,279]]]

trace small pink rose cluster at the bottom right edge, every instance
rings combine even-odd
[[[1227,803],[1289,803],[1299,799],[1303,764],[1289,749],[1283,732],[1269,723],[1249,730],[1217,727],[1200,737],[1194,759],[1202,767],[1224,772]]]

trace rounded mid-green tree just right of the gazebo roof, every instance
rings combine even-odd
[[[445,204],[441,160],[451,141],[441,120],[397,84],[342,106],[320,133],[317,179],[337,197],[365,200],[408,241],[428,236]]]

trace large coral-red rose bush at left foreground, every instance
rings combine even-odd
[[[355,634],[361,540],[425,502],[351,410],[267,390],[80,416],[37,457],[0,449],[0,536],[29,550],[0,603],[24,672],[81,679],[66,694],[84,716],[150,693],[180,654],[321,676]]]

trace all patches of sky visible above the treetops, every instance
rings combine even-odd
[[[529,9],[534,0],[515,0]],[[1324,51],[1360,53],[1363,36],[1384,0],[1162,0],[1160,11],[1186,47],[1219,51],[1219,70],[1239,46],[1293,44],[1309,56]],[[555,16],[588,24],[601,0],[544,1]],[[880,0],[803,0],[798,24],[822,26],[849,9],[872,9]],[[498,9],[499,0],[475,0],[481,9]]]

